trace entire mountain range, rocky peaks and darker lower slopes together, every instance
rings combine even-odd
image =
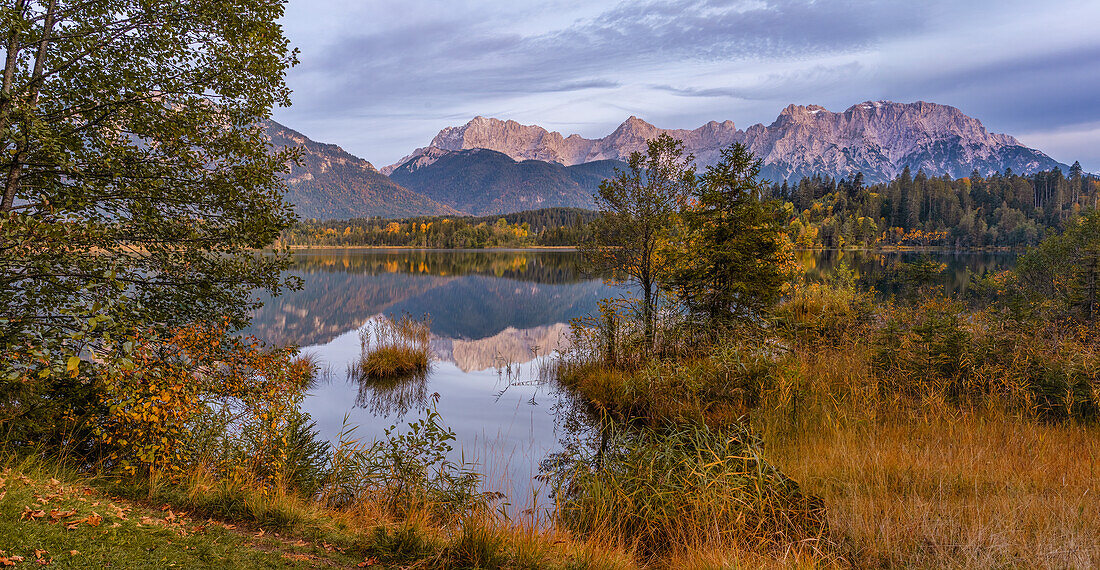
[[[762,176],[796,180],[817,174],[886,182],[905,167],[928,176],[982,175],[1011,168],[1031,174],[1068,166],[992,133],[960,110],[925,101],[867,101],[843,112],[791,105],[769,125],[739,130],[711,121],[694,130],[660,129],[637,117],[610,134],[563,136],[538,125],[475,117],[441,130],[431,142],[377,171],[331,144],[278,123],[273,144],[300,147],[286,176],[288,199],[302,218],[496,215],[525,209],[593,206],[600,182],[622,167],[646,141],[662,133],[682,140],[700,167],[739,142],[763,161]]]

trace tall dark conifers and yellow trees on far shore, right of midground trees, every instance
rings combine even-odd
[[[785,202],[789,233],[800,248],[847,245],[1023,246],[1060,233],[1097,207],[1100,179],[1074,163],[1030,176],[928,177],[909,168],[889,183],[814,176],[771,187]]]

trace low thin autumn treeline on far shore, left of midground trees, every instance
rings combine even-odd
[[[482,217],[309,220],[286,230],[283,241],[295,245],[449,249],[574,245],[596,216],[581,208],[543,208]]]

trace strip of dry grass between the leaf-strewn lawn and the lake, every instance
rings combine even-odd
[[[218,480],[204,470],[174,484],[136,480],[88,483],[143,504],[170,505],[195,516],[231,523],[251,536],[265,530],[286,542],[324,545],[328,551],[356,561],[373,560],[372,566],[382,568],[637,568],[623,549],[575,540],[531,520],[505,522],[487,512],[470,513],[444,525],[428,511],[395,516],[386,505],[367,497],[329,507],[278,489]]]

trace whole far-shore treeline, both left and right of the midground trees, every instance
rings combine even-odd
[[[965,178],[915,175],[905,168],[889,183],[813,176],[770,187],[788,212],[799,248],[1019,248],[1059,233],[1100,202],[1100,179],[1075,163],[1027,176],[1011,171]],[[581,208],[544,208],[503,216],[364,218],[306,221],[283,240],[296,245],[526,248],[575,245],[598,216]]]

